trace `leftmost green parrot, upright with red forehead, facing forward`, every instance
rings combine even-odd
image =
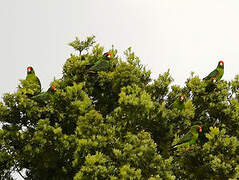
[[[41,82],[39,78],[35,75],[35,71],[31,66],[27,67],[26,82],[27,82],[26,94],[28,96],[31,97],[41,92]]]

